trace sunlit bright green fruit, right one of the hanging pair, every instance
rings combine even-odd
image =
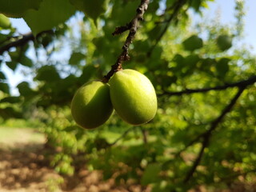
[[[118,115],[132,125],[149,122],[158,108],[154,86],[136,70],[114,74],[110,79],[110,98]]]

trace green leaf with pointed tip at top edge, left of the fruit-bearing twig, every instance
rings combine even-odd
[[[76,9],[82,10],[87,17],[96,23],[97,18],[106,12],[108,0],[70,0]]]

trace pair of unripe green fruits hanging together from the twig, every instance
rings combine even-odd
[[[101,126],[116,110],[132,125],[149,122],[157,111],[154,86],[136,70],[119,70],[109,83],[87,82],[78,89],[71,102],[71,114],[79,126]]]

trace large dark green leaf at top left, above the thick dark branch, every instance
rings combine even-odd
[[[36,35],[65,22],[74,12],[69,0],[43,0],[39,10],[28,10],[23,18]]]

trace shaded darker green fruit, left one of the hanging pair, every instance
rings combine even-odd
[[[100,81],[84,84],[71,102],[74,121],[86,129],[101,126],[113,112],[110,101],[110,86]]]

